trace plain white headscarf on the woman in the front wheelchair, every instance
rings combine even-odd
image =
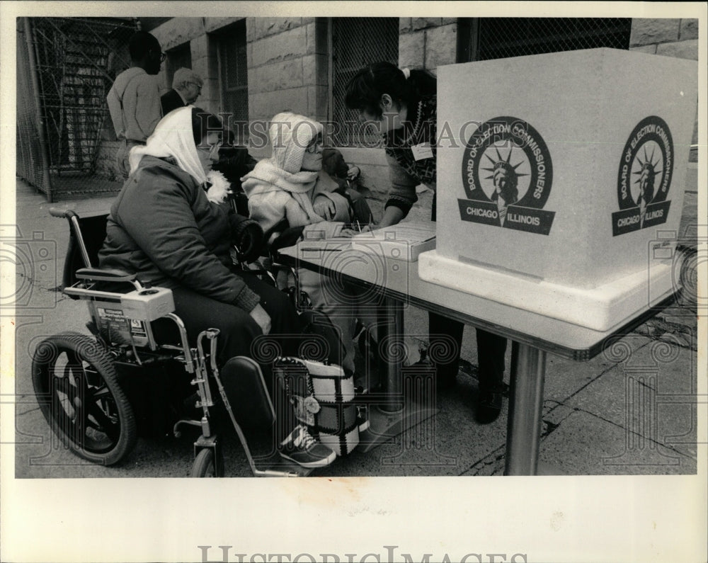
[[[144,155],[172,157],[177,165],[198,183],[207,181],[199,161],[192,133],[192,106],[173,110],[157,124],[144,145],[130,149],[130,172],[134,172]]]

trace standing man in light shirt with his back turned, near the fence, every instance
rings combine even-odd
[[[120,141],[116,161],[125,179],[130,171],[128,154],[138,144],[145,144],[162,118],[156,74],[165,59],[154,35],[138,31],[128,42],[131,66],[115,77],[108,91],[108,110],[115,136]]]

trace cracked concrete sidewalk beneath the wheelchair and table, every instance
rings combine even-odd
[[[423,196],[423,200],[425,197]],[[693,192],[685,223],[695,224]],[[17,182],[16,477],[186,477],[197,431],[181,438],[139,439],[120,467],[91,465],[53,438],[33,394],[30,363],[43,337],[63,331],[89,334],[86,305],[59,291],[69,230],[50,207],[107,209],[109,200],[48,204]],[[379,210],[374,205],[374,212]],[[421,217],[429,210],[419,209]],[[690,245],[688,245],[690,246]],[[25,253],[25,254],[22,254]],[[27,256],[28,258],[23,258]],[[695,288],[695,285],[693,285]],[[423,343],[428,315],[406,309],[409,341]],[[510,346],[509,346],[510,348]],[[435,398],[439,412],[368,453],[355,451],[317,476],[501,475],[508,402],[486,426],[474,421],[477,392],[474,331],[466,329],[457,387]],[[507,374],[508,382],[508,365]],[[539,472],[544,474],[695,474],[697,311],[685,292],[677,302],[586,363],[547,357]],[[226,472],[248,477],[234,436],[224,436]],[[259,448],[267,447],[258,443]]]

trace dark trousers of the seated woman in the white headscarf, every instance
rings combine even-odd
[[[224,365],[234,356],[248,356],[261,365],[270,397],[275,405],[277,420],[275,438],[278,441],[287,436],[295,427],[295,416],[285,391],[273,381],[272,363],[275,356],[295,356],[302,344],[302,322],[292,303],[282,291],[259,280],[255,275],[245,274],[246,285],[261,297],[261,307],[270,315],[270,334],[263,336],[261,327],[251,315],[236,307],[205,297],[188,288],[172,290],[175,301],[175,313],[182,319],[190,341],[195,346],[199,333],[205,329],[219,329],[217,338],[217,356],[219,365]],[[176,331],[172,322],[154,323],[156,338],[175,340]],[[207,341],[202,344],[208,346]],[[207,352],[207,349],[205,349]],[[231,387],[228,377],[238,377],[222,371],[224,388]],[[229,394],[227,394],[229,396]],[[234,411],[239,400],[229,397]]]

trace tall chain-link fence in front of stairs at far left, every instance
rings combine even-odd
[[[115,193],[115,139],[105,97],[130,67],[135,21],[119,18],[18,20],[17,174],[52,201]],[[111,150],[112,149],[112,150]],[[110,154],[108,154],[110,153]],[[101,165],[101,160],[110,165]]]

